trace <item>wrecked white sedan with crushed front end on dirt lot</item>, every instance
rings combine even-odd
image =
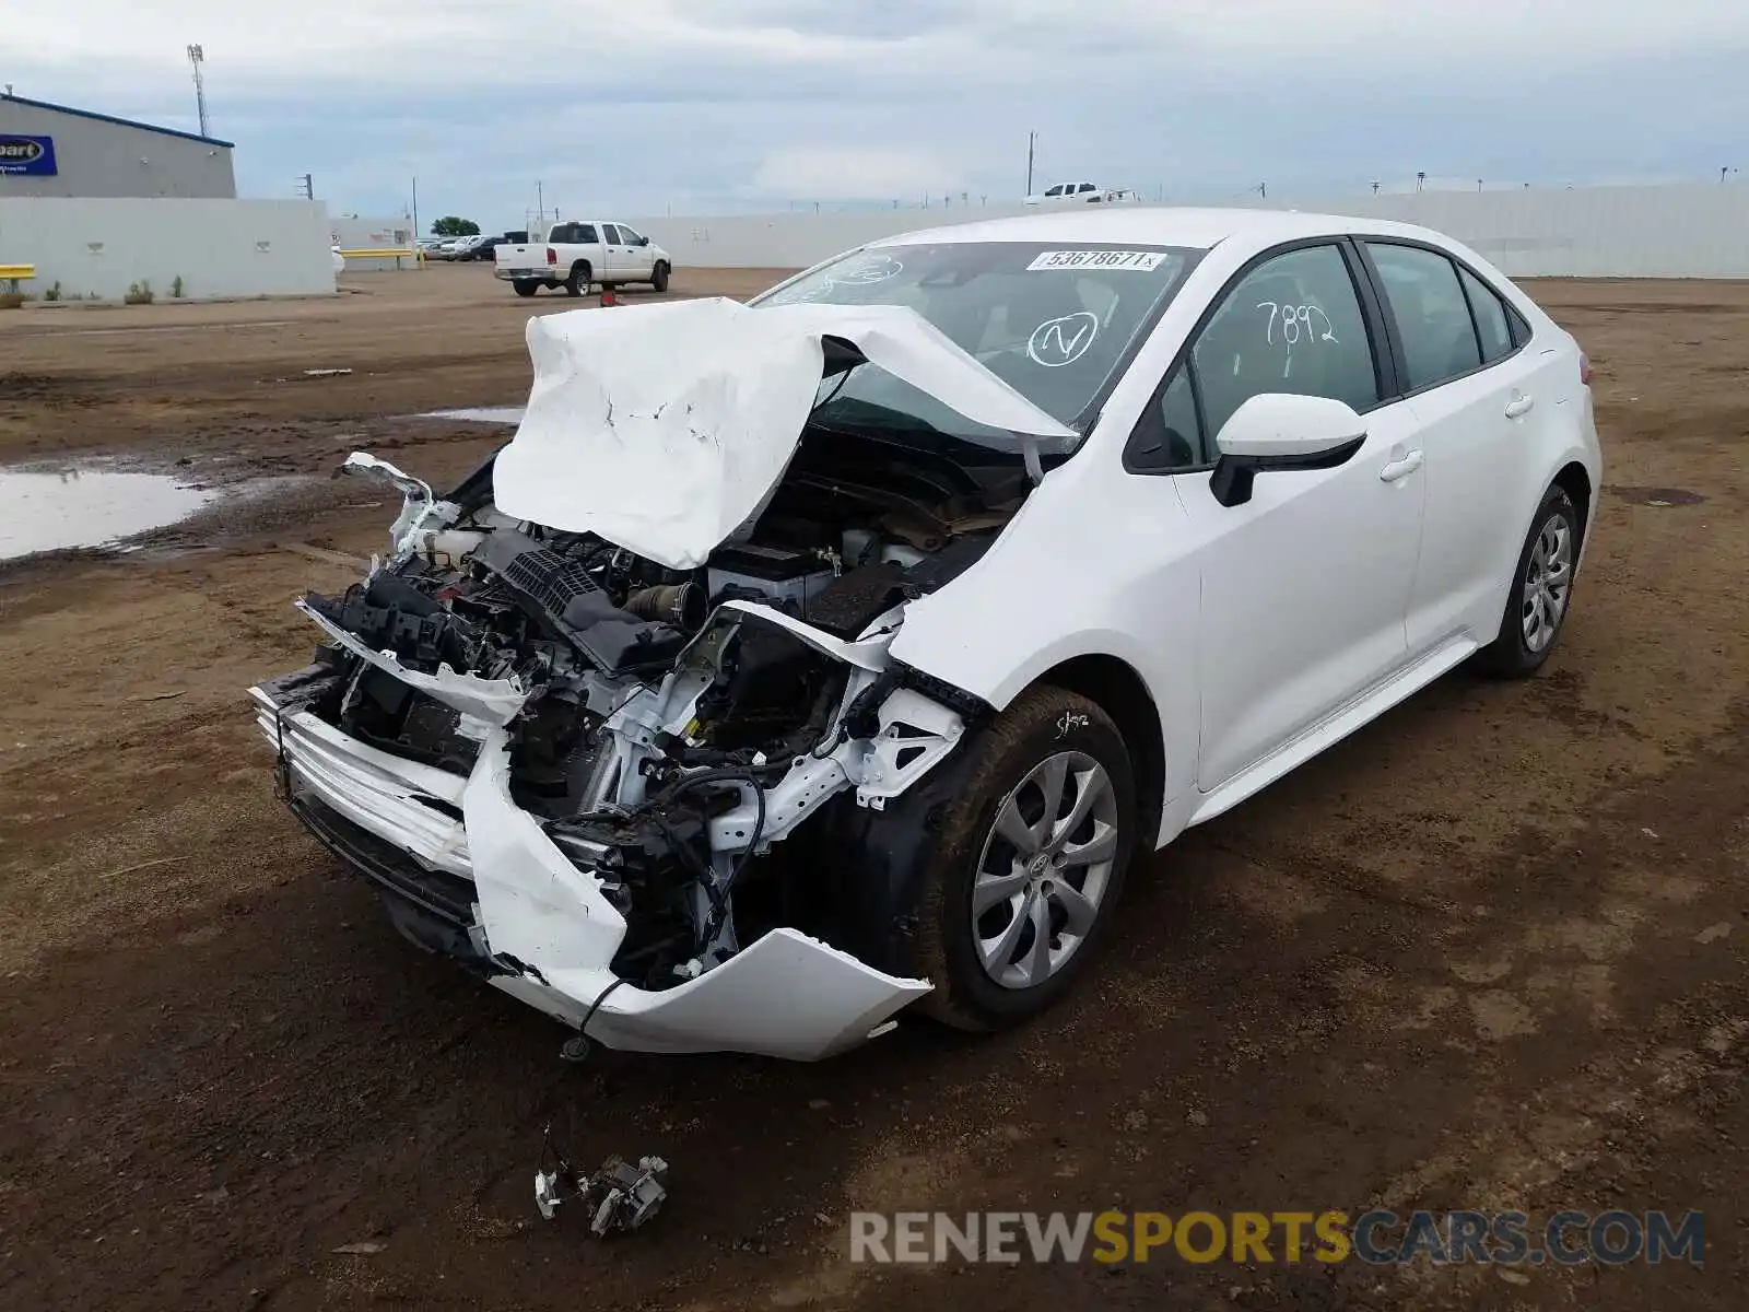
[[[1574,339],[1361,219],[964,224],[528,345],[460,486],[346,462],[392,551],[252,694],[408,938],[614,1048],[1035,1016],[1137,857],[1536,672],[1602,478]]]

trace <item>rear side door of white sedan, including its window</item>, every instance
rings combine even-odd
[[[1502,492],[1536,476],[1529,460],[1537,443],[1527,429],[1541,416],[1534,367],[1522,352],[1529,329],[1515,334],[1513,311],[1448,252],[1380,238],[1366,238],[1361,250],[1427,458],[1410,651],[1452,639],[1485,644],[1499,628],[1499,598],[1525,534],[1516,500]]]

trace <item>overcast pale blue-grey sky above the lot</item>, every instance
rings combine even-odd
[[[712,213],[1446,185],[1749,185],[1749,0],[44,0],[21,96],[196,126],[336,212]]]

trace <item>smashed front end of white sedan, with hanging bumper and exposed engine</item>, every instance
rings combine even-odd
[[[392,549],[297,600],[315,663],[250,689],[285,799],[404,936],[612,1048],[812,1060],[930,990],[869,887],[909,834],[869,822],[915,827],[888,808],[986,708],[888,649],[1028,483],[791,457],[675,567],[512,516],[493,462],[439,499],[353,455],[406,493]]]

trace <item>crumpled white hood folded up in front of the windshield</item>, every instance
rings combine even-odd
[[[904,306],[574,310],[528,320],[533,388],[493,467],[497,507],[670,569],[705,563],[784,476],[826,338],[974,423],[1074,436]]]

